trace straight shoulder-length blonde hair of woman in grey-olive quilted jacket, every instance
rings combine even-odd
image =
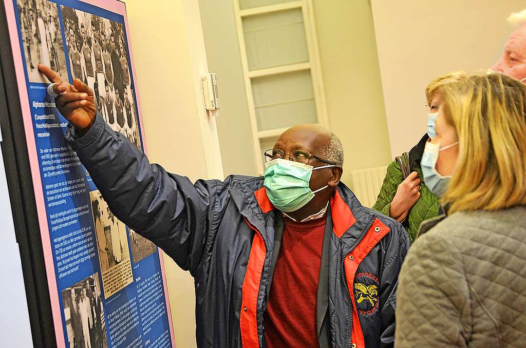
[[[526,204],[526,86],[501,74],[472,76],[441,89],[459,157],[443,196],[450,212]]]

